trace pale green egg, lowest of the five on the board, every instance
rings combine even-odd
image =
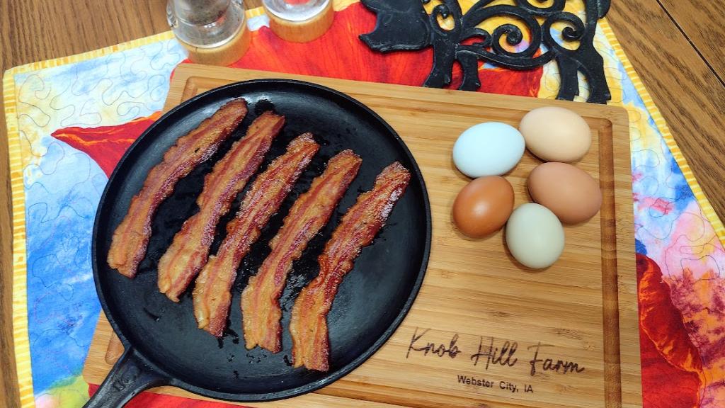
[[[564,229],[548,208],[526,203],[516,208],[506,224],[506,246],[524,266],[552,266],[564,250]]]

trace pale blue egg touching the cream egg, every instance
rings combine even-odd
[[[453,163],[473,179],[500,176],[523,156],[521,132],[506,123],[479,123],[463,131],[453,145]]]

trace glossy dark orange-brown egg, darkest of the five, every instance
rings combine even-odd
[[[455,197],[453,222],[460,232],[481,238],[497,232],[513,211],[513,187],[501,176],[479,177]]]

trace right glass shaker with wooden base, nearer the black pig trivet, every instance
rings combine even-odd
[[[332,0],[262,0],[270,28],[292,42],[312,41],[332,25]]]

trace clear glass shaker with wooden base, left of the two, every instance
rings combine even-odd
[[[241,0],[168,0],[166,17],[191,62],[229,65],[249,48]]]

